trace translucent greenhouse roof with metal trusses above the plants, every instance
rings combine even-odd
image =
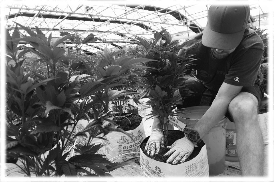
[[[142,4],[127,1],[80,1],[81,4],[66,4],[66,1],[57,1],[58,4],[56,1],[43,1],[45,4],[22,2],[5,5],[7,29],[14,29],[16,22],[33,30],[37,26],[47,37],[52,34],[53,38],[60,37],[62,31],[82,38],[92,33],[98,40],[82,49],[95,54],[105,47],[114,51],[136,45],[134,36],[149,39],[162,28],[167,29],[173,40],[186,40],[204,30],[210,6],[207,1],[177,1],[177,4],[163,1],[146,4],[142,1]],[[267,29],[268,7],[273,7],[269,6],[270,3],[273,5],[273,1],[250,1],[251,26]],[[69,42],[66,45],[73,46]]]

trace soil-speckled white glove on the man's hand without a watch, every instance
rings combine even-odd
[[[158,154],[160,147],[163,148],[165,145],[165,138],[162,129],[152,129],[151,135],[146,142],[145,152],[150,156]]]

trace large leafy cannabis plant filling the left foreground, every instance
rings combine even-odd
[[[119,93],[110,91],[119,85],[116,80],[121,78],[120,74],[147,60],[112,60],[106,49],[104,60],[95,65],[86,58],[65,55],[66,50],[58,46],[73,39],[73,34],[53,41],[51,35],[47,38],[38,27],[35,33],[18,25],[29,36],[20,36],[18,28],[12,35],[7,32],[7,162],[15,163],[28,176],[48,176],[50,170],[56,171],[57,176],[77,175],[79,172],[109,175],[107,172],[121,164],[111,163],[104,155],[97,154],[101,146],[90,142],[92,138],[111,131],[128,135],[108,119],[111,116],[108,103],[119,97]],[[19,41],[31,47],[19,46]],[[24,50],[18,53],[22,47]],[[39,56],[40,63],[24,67],[27,52]],[[81,66],[86,67],[89,75],[71,79]],[[78,155],[68,158],[68,148],[73,142],[72,131],[89,110],[92,110],[93,120],[83,130],[90,133],[89,142],[78,146]],[[106,121],[111,125],[106,125]]]

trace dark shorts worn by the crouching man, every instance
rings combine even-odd
[[[183,99],[183,105],[177,105],[177,108],[181,109],[186,107],[199,106],[202,99],[203,92],[206,90],[206,87],[197,78],[190,78],[186,80],[185,84],[187,85],[185,88],[190,89],[194,93],[192,94],[192,96],[185,96],[186,94],[184,94],[184,92],[180,90],[180,94],[181,96],[184,97],[184,99]],[[210,106],[213,100],[215,99],[217,92],[213,90],[209,90],[209,91],[212,94],[212,98],[209,102],[209,106]],[[253,94],[258,99],[258,106],[260,105],[260,102],[264,96],[263,87],[257,84],[255,84],[254,86],[244,86],[241,92],[248,92]],[[230,121],[233,121],[228,111],[225,116],[228,117]]]

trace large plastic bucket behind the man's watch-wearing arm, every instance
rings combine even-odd
[[[178,119],[192,128],[206,113],[210,106],[186,107],[186,111],[178,113]],[[223,117],[203,138],[206,144],[209,175],[215,176],[225,170],[225,129],[227,117]]]

